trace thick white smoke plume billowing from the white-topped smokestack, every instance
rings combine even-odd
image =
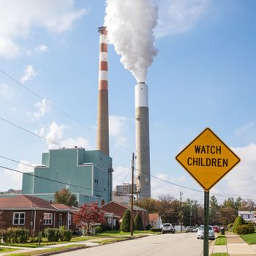
[[[105,26],[108,40],[121,55],[124,68],[138,82],[146,81],[157,48],[153,29],[157,26],[158,8],[151,0],[106,0]]]

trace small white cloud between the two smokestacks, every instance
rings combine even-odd
[[[127,138],[123,135],[127,120],[128,118],[125,116],[109,116],[110,140],[115,140],[116,146],[124,145],[127,142]]]

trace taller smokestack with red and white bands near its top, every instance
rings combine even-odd
[[[108,31],[99,28],[99,101],[97,119],[97,149],[109,155],[108,127]]]

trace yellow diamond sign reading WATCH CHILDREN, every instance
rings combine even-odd
[[[236,154],[209,128],[184,148],[176,160],[205,191],[211,189],[240,162]]]

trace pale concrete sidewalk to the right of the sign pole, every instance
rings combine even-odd
[[[227,245],[214,245],[211,248],[211,253],[227,252],[230,256],[247,256],[256,255],[256,245],[249,245],[233,233],[226,233]]]

